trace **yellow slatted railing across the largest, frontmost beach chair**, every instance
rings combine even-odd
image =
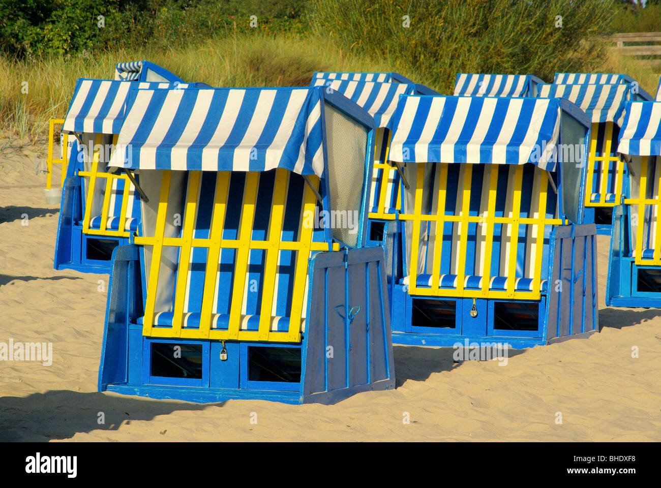
[[[272,197],[272,208],[270,213],[270,225],[268,227],[268,239],[264,241],[253,240],[254,213],[256,207],[257,190],[260,173],[249,172],[246,175],[243,201],[228,202],[229,181],[231,173],[221,171],[217,173],[212,222],[208,239],[193,237],[196,208],[199,204],[197,198],[200,191],[201,171],[190,171],[188,176],[188,188],[184,202],[184,218],[180,237],[165,237],[165,224],[169,212],[168,196],[171,186],[171,171],[163,172],[161,182],[161,194],[159,196],[158,211],[155,224],[155,235],[136,237],[138,245],[150,246],[151,266],[149,268],[149,281],[147,283],[147,300],[145,316],[143,319],[143,335],[148,337],[178,337],[186,339],[215,339],[229,340],[237,339],[243,341],[274,341],[274,342],[300,342],[301,341],[301,317],[303,316],[303,305],[305,304],[305,284],[307,281],[307,264],[310,253],[313,251],[328,251],[329,244],[313,242],[313,227],[303,225],[303,215],[306,212],[315,212],[316,197],[309,188],[305,186],[303,208],[301,209],[301,226],[299,228],[299,239],[297,241],[282,241],[282,227],[284,213],[286,210],[286,196],[290,173],[284,169],[276,170],[276,183]],[[319,185],[317,177],[310,177],[315,186]],[[237,239],[223,239],[223,225],[228,205],[241,205],[241,222]],[[177,276],[175,282],[175,296],[173,307],[172,327],[155,327],[155,304],[157,300],[157,288],[159,272],[161,269],[161,256],[163,247],[173,246],[178,248]],[[202,308],[200,311],[199,329],[186,329],[184,323],[184,302],[186,301],[186,285],[188,280],[189,261],[192,249],[202,247],[208,249],[206,271],[204,275],[204,290],[202,293]],[[233,270],[233,284],[231,292],[231,304],[229,307],[229,329],[219,330],[212,328],[214,315],[214,300],[216,286],[229,286],[227,283],[217,283],[217,269],[221,249],[235,249],[235,264]],[[261,249],[266,253],[262,302],[260,307],[260,321],[257,331],[241,330],[241,309],[245,296],[245,280],[249,266],[251,249]],[[339,250],[339,245],[332,245],[334,251]],[[278,257],[280,251],[296,251],[295,270],[293,277],[293,294],[289,310],[288,332],[271,330],[272,309],[274,300],[274,288],[276,274],[278,272]]]

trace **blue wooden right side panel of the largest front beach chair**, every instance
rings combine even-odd
[[[305,331],[304,403],[395,387],[384,261],[380,246],[319,253],[311,261],[315,307]]]

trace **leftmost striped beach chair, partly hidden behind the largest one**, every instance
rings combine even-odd
[[[124,64],[132,63],[120,63]],[[149,69],[156,68],[142,61],[139,66],[143,70],[138,75],[145,75],[145,64]],[[127,175],[106,171],[124,120],[125,102],[130,90],[157,87],[186,89],[190,86],[206,85],[189,85],[179,81],[77,81],[62,127],[62,132],[69,134],[69,138],[75,136],[77,142],[71,148],[63,188],[54,259],[56,269],[110,272],[112,249],[128,243],[129,234],[137,230],[139,208],[133,184]]]

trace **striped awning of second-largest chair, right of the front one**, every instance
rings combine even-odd
[[[555,171],[560,99],[399,97],[389,160],[533,163]]]

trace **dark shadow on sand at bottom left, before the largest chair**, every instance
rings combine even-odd
[[[27,397],[0,398],[0,441],[48,441],[68,439],[77,432],[118,430],[122,423],[152,420],[178,410],[203,410],[223,403],[183,403],[107,393],[52,390]],[[105,424],[99,424],[99,412]]]

